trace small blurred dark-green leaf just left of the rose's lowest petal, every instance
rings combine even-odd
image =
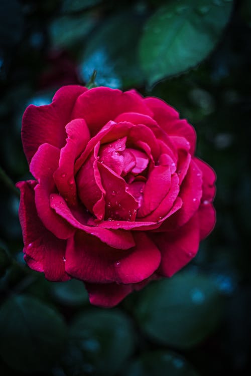
[[[51,292],[59,303],[65,305],[80,305],[89,301],[83,282],[76,279],[52,283]]]

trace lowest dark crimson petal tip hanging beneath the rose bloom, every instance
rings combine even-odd
[[[103,308],[114,307],[133,291],[132,285],[117,283],[85,283],[85,287],[90,303]]]

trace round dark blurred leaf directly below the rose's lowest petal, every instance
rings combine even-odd
[[[117,309],[83,312],[72,323],[70,338],[63,357],[64,371],[69,376],[112,376],[134,350],[131,321]]]

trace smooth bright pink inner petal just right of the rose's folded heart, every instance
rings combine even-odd
[[[161,204],[170,189],[170,184],[170,167],[155,166],[146,181],[138,217],[146,217]]]

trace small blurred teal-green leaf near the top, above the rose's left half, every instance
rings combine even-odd
[[[52,46],[72,49],[76,43],[83,41],[95,23],[96,19],[92,14],[56,18],[49,29]]]

